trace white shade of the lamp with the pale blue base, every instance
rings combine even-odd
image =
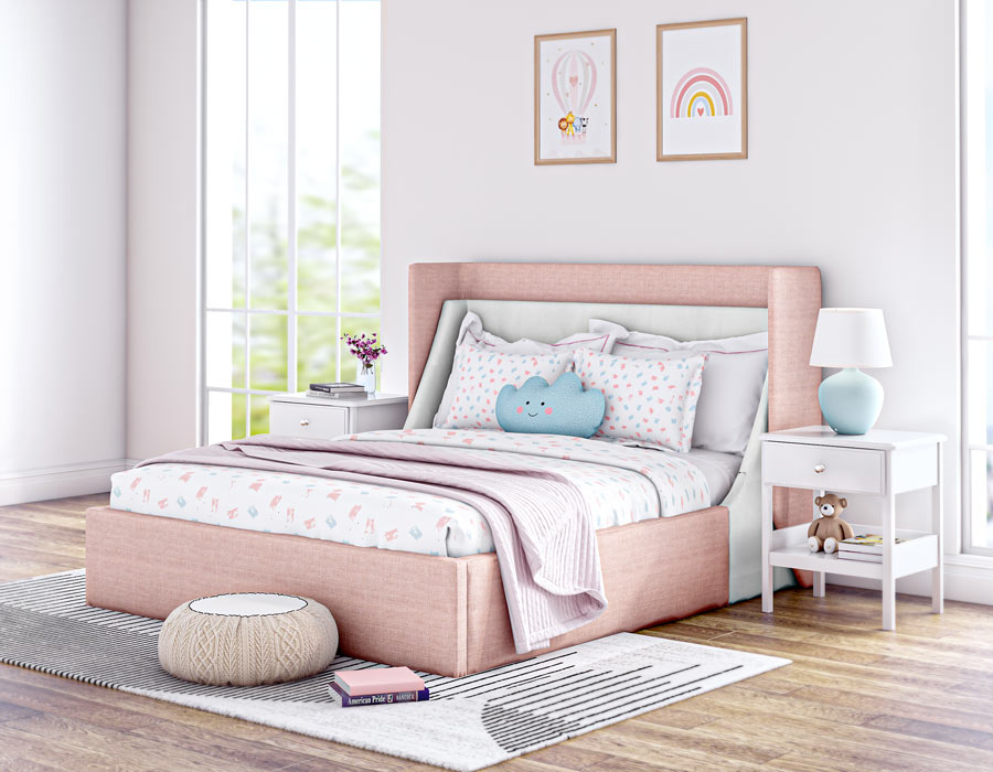
[[[814,367],[891,367],[880,309],[821,309],[810,352]]]

